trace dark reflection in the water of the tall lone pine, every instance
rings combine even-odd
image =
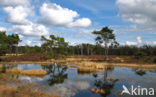
[[[106,97],[107,95],[110,95],[115,83],[118,81],[118,79],[113,79],[113,78],[107,78],[107,73],[108,71],[113,71],[114,67],[105,67],[104,68],[104,79],[98,79],[98,74],[93,74],[95,81],[94,81],[94,86],[91,91],[93,93],[100,93],[102,97]]]

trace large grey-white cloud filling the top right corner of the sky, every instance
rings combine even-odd
[[[117,0],[119,16],[125,21],[145,24],[156,21],[156,0]]]

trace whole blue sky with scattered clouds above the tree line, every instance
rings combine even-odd
[[[104,26],[121,45],[156,45],[156,0],[0,0],[0,31],[19,34],[19,45],[51,34],[95,44],[92,32]]]

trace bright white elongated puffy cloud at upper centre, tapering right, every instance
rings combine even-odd
[[[91,25],[90,19],[80,18],[75,20],[79,16],[76,11],[63,8],[55,3],[44,3],[40,7],[40,14],[41,18],[38,21],[47,25],[59,27],[88,27]]]

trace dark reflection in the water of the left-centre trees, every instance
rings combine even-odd
[[[63,83],[67,79],[67,66],[61,63],[52,63],[50,65],[43,66],[43,69],[47,71],[49,75],[48,84],[50,86],[58,83]]]

